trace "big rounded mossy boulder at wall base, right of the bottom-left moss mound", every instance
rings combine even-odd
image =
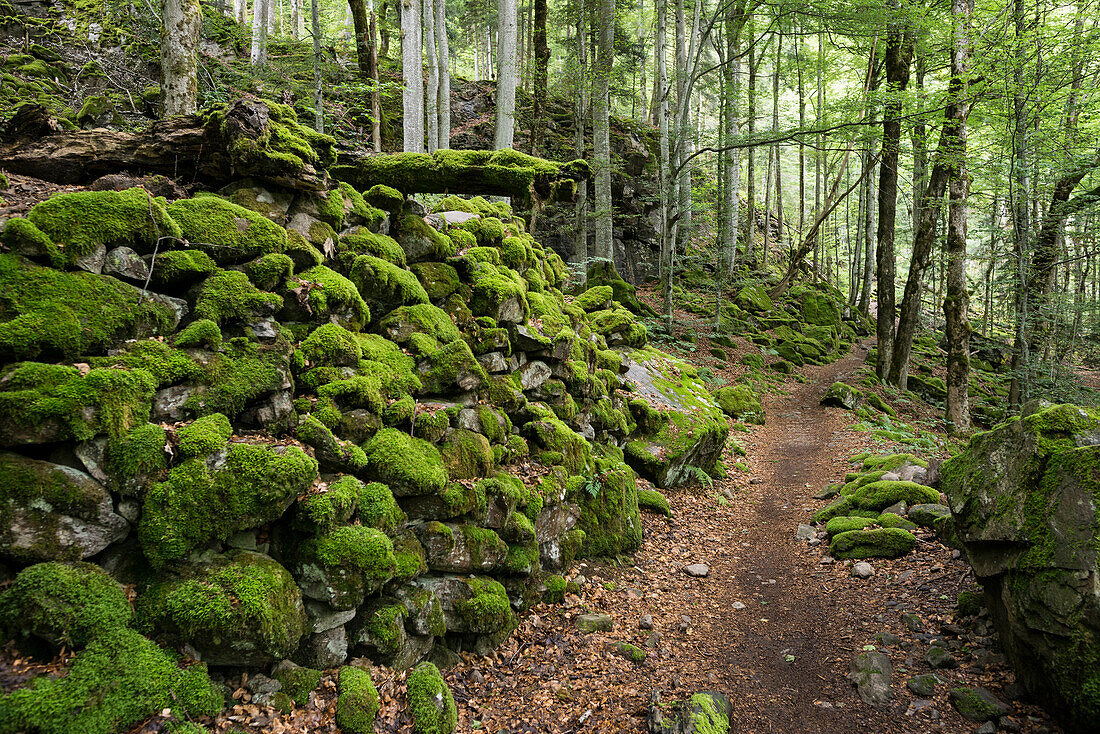
[[[178,569],[138,598],[141,628],[186,642],[211,665],[288,657],[306,632],[301,594],[277,562],[246,550]]]

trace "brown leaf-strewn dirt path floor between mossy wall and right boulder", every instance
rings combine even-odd
[[[979,590],[966,562],[931,534],[898,560],[875,560],[876,574],[851,576],[850,562],[826,560],[827,546],[795,539],[800,523],[822,505],[823,485],[851,470],[848,457],[882,452],[851,414],[818,404],[828,385],[862,365],[866,346],[825,366],[801,370],[765,401],[767,425],[744,441],[747,473],[713,486],[668,492],[672,518],[644,513],[642,548],[624,563],[582,562],[580,595],[534,610],[490,658],[468,657],[447,671],[462,732],[644,732],[653,691],[664,701],[702,690],[727,694],[733,731],[974,732],[950,706],[955,686],[982,686],[1012,700],[1014,676],[996,644],[955,620],[956,596]],[[901,449],[899,449],[901,450]],[[727,457],[727,464],[737,461]],[[683,568],[705,563],[705,578]],[[614,627],[583,634],[575,617],[608,614]],[[904,623],[903,614],[920,617]],[[652,631],[642,617],[652,618]],[[965,624],[965,623],[964,623]],[[899,642],[883,645],[879,633]],[[959,667],[936,672],[946,682],[930,698],[905,681],[931,672],[928,643],[942,640]],[[610,648],[627,642],[648,650],[631,662]],[[846,675],[865,646],[893,665],[893,701],[864,704]],[[399,722],[400,701],[385,706]],[[388,709],[388,715],[387,715]],[[1013,702],[1010,726],[1056,732],[1042,710]]]

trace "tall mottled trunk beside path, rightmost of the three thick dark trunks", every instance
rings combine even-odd
[[[966,165],[966,118],[970,102],[966,99],[970,72],[970,4],[969,0],[952,0],[954,48],[952,76],[960,79],[955,116],[955,131],[948,184],[947,239],[945,255],[944,318],[947,337],[947,409],[948,431],[965,434],[970,429],[970,405],[967,391],[970,380],[970,298],[966,288],[967,194],[970,187]]]

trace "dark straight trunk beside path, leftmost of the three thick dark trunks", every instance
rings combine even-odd
[[[901,21],[892,21],[884,57],[888,101],[882,111],[882,162],[879,164],[879,227],[876,235],[878,289],[878,355],[875,371],[887,377],[894,350],[894,227],[898,217],[898,153],[901,146],[902,95],[909,85],[913,37]],[[914,255],[914,261],[916,260]],[[912,277],[912,276],[910,276]],[[891,377],[891,382],[893,379]]]

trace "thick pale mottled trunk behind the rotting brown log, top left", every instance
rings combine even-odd
[[[164,114],[194,114],[198,109],[198,44],[202,9],[198,0],[164,0],[161,28],[161,76]]]

